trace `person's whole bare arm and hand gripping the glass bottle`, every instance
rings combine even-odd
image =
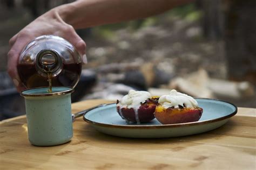
[[[84,0],[60,5],[25,26],[9,41],[8,73],[18,91],[24,89],[17,73],[19,54],[38,36],[52,34],[73,44],[86,62],[85,42],[75,29],[144,18],[191,0]]]

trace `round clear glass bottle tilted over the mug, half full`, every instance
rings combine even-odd
[[[17,69],[26,88],[49,87],[49,81],[52,86],[75,87],[82,71],[82,60],[70,42],[45,35],[26,45]]]

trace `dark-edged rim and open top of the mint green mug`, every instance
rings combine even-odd
[[[48,93],[49,87],[36,87],[21,91],[23,97],[56,96],[73,93],[75,90],[69,86],[52,86],[52,93]]]

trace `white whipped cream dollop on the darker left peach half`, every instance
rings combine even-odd
[[[125,95],[122,100],[117,104],[122,108],[138,108],[140,103],[144,103],[148,98],[151,98],[151,94],[148,91],[135,91],[130,90],[127,95]]]

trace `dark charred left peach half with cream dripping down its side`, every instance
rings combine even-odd
[[[117,112],[126,122],[137,124],[150,122],[154,119],[154,111],[156,110],[158,98],[149,98],[144,103],[140,103],[139,108],[120,108],[120,106],[117,106]],[[119,101],[117,100],[118,103]]]

